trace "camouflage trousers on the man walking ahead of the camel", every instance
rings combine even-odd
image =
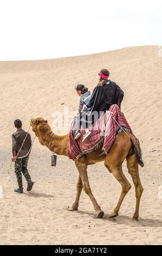
[[[29,157],[24,157],[22,159],[16,159],[15,161],[15,174],[17,177],[17,182],[19,187],[22,187],[22,174],[24,175],[27,181],[31,180],[30,175],[28,173],[28,169],[27,169],[28,160],[29,160]]]

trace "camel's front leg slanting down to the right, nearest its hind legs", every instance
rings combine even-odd
[[[86,165],[85,157],[81,157],[79,160],[76,160],[75,163],[76,163],[76,167],[78,169],[80,178],[82,180],[83,190],[85,191],[86,194],[88,194],[89,198],[92,201],[92,204],[94,205],[94,209],[96,211],[96,218],[102,218],[104,215],[104,212],[101,210],[94,195],[91,192],[91,188],[88,180],[88,174],[86,170],[87,165]]]

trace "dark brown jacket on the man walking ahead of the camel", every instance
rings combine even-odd
[[[17,155],[26,135],[27,135],[27,132],[24,131],[22,128],[18,128],[17,131],[12,134],[13,156]],[[32,145],[32,140],[31,140],[30,134],[28,133],[27,138],[22,146],[22,149],[21,149],[20,153],[18,154],[18,157],[26,156],[30,150],[31,145]]]

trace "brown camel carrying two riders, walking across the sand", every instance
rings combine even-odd
[[[32,130],[35,132],[35,135],[38,137],[41,145],[45,145],[49,150],[57,155],[67,156],[71,159],[70,151],[68,149],[69,133],[64,136],[55,135],[52,132],[51,127],[48,125],[47,120],[43,118],[33,118],[30,121],[30,125],[32,126]],[[104,161],[104,166],[109,170],[110,173],[114,175],[115,179],[119,181],[122,186],[119,201],[113,212],[109,215],[110,218],[118,216],[118,212],[120,210],[123,199],[131,188],[129,181],[122,171],[122,163],[126,159],[128,172],[132,176],[135,186],[136,196],[136,206],[132,220],[138,221],[140,198],[144,190],[139,177],[139,164],[143,167],[144,162],[142,161],[141,149],[138,139],[128,131],[126,133],[123,131],[120,133],[120,135],[115,139],[115,142],[110,148],[108,154],[102,154],[102,147],[100,147],[80,157],[78,160],[73,160],[78,169],[79,178],[77,182],[76,199],[74,200],[72,207],[68,208],[68,210],[78,210],[80,194],[82,190],[84,190],[94,205],[94,209],[96,211],[95,217],[103,217],[104,212],[98,205],[90,188],[87,167],[90,164]]]

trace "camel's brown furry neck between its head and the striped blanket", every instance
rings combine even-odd
[[[52,130],[44,132],[39,129],[35,132],[39,142],[57,155],[69,156],[68,134],[64,136],[55,135]]]

